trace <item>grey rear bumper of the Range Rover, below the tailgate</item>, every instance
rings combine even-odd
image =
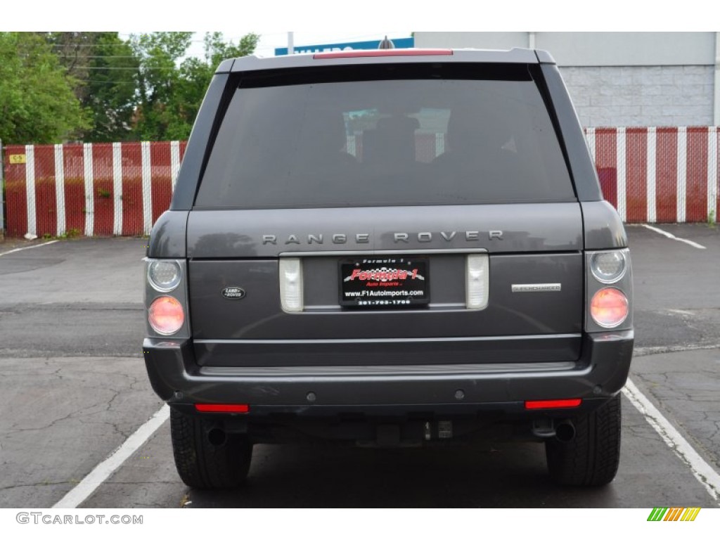
[[[522,415],[526,400],[581,397],[594,407],[616,395],[628,376],[633,341],[633,330],[585,334],[578,361],[334,368],[203,367],[189,341],[146,338],[143,349],[153,389],[186,410],[194,403],[247,403],[249,416],[418,407]]]

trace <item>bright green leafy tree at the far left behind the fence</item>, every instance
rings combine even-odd
[[[0,32],[0,139],[58,143],[88,129],[75,84],[42,36]]]

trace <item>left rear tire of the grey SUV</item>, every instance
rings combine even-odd
[[[222,440],[213,418],[188,416],[171,408],[170,434],[175,467],[183,482],[203,490],[230,489],[245,482],[253,446],[247,436],[227,433]],[[213,442],[210,442],[210,439]],[[213,444],[215,443],[215,444]]]

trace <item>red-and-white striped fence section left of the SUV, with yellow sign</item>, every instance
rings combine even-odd
[[[168,209],[186,143],[4,148],[9,236],[141,235]]]

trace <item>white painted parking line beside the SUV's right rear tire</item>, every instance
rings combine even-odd
[[[680,461],[690,467],[693,476],[705,487],[710,496],[714,500],[718,500],[720,498],[720,474],[708,465],[693,446],[680,435],[675,426],[672,426],[670,421],[652,405],[650,400],[637,389],[630,379],[623,388],[623,394],[635,405],[635,408],[645,417],[647,423],[657,431],[667,446],[670,446],[670,449],[675,452]]]

